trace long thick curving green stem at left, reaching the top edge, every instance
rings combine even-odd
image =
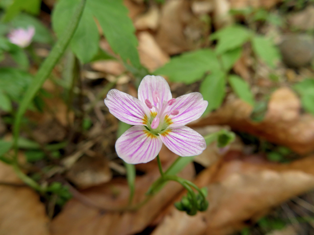
[[[14,127],[13,127],[13,135],[14,135],[14,141],[13,141],[13,147],[15,150],[15,154],[13,156],[13,169],[16,172],[16,174],[30,187],[35,188],[38,191],[43,191],[43,188],[38,185],[35,181],[33,181],[31,178],[29,178],[26,174],[24,174],[18,165],[18,139],[20,135],[20,128],[21,128],[21,121],[22,118],[29,107],[29,104],[35,97],[38,90],[41,88],[47,77],[52,72],[52,69],[60,59],[60,57],[63,55],[65,49],[70,43],[70,40],[72,36],[75,33],[75,30],[77,29],[79,20],[81,18],[81,15],[84,10],[86,0],[81,0],[78,3],[78,7],[71,19],[71,22],[68,24],[68,27],[64,30],[62,36],[60,39],[56,42],[54,47],[52,48],[52,51],[50,52],[47,59],[43,62],[40,69],[38,70],[34,80],[32,83],[28,86],[26,93],[24,95],[24,99],[22,100],[20,107],[17,111],[16,118],[14,120]]]

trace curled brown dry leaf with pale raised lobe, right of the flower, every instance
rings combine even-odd
[[[279,88],[271,95],[268,107],[264,120],[257,123],[250,119],[250,105],[240,99],[228,100],[207,118],[190,126],[230,125],[301,154],[314,150],[314,118],[301,114],[296,94],[288,88]]]

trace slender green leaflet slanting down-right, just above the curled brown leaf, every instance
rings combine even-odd
[[[235,94],[245,102],[254,106],[255,101],[249,84],[237,75],[230,75],[228,80]]]

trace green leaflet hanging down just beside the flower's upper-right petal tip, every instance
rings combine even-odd
[[[226,93],[226,78],[222,71],[215,71],[206,76],[200,86],[200,93],[208,101],[204,115],[218,108]]]

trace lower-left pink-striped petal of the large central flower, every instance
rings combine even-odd
[[[147,163],[157,157],[162,146],[160,137],[144,126],[133,126],[116,141],[116,152],[129,164]]]

